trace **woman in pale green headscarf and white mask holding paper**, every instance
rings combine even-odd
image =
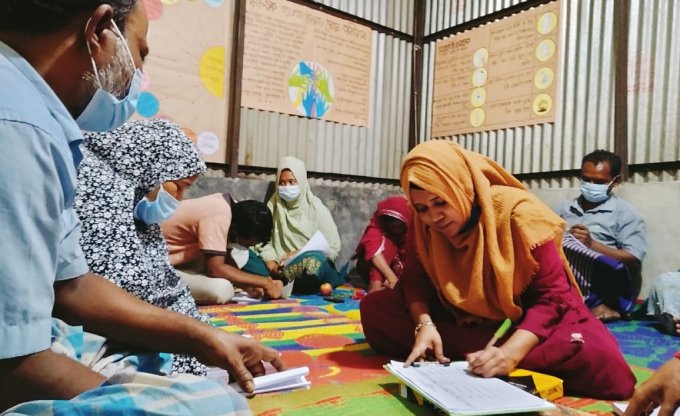
[[[276,190],[267,206],[274,217],[274,231],[260,256],[271,276],[294,281],[293,292],[299,294],[318,293],[322,283],[336,287],[345,282],[333,263],[340,253],[338,228],[328,208],[309,189],[307,170],[301,160],[292,156],[281,159]],[[328,241],[330,255],[310,251],[284,267],[282,263],[303,248],[317,231]]]

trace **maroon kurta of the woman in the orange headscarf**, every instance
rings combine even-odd
[[[518,367],[555,375],[572,394],[629,398],[635,377],[616,339],[569,285],[554,243],[541,245],[532,253],[539,268],[521,298],[524,314],[514,325],[536,334],[540,344]],[[484,348],[500,324],[456,323],[439,301],[416,255],[409,251],[397,287],[371,293],[361,302],[361,322],[371,347],[402,359],[410,354],[415,324],[408,305],[415,301],[430,305],[444,354],[454,360]]]

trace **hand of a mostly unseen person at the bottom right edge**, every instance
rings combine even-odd
[[[642,383],[628,402],[624,416],[646,414],[661,406],[659,416],[671,416],[680,405],[680,359],[671,358]]]

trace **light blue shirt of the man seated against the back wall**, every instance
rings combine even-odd
[[[566,201],[557,214],[567,221],[567,228],[583,224],[594,240],[626,250],[640,261],[647,253],[645,221],[632,205],[615,195],[587,211],[581,208],[578,198]]]

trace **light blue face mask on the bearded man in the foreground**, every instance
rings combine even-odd
[[[113,21],[112,24],[114,32],[118,35],[116,54],[111,64],[105,69],[102,71],[97,69],[94,58],[92,58],[90,45],[86,44],[94,70],[92,81],[96,84],[97,89],[85,110],[76,119],[78,126],[85,131],[100,132],[116,129],[123,125],[137,108],[142,72],[135,67],[132,53],[130,53],[122,33],[118,30],[118,26]],[[130,74],[126,70],[128,63],[132,65],[132,75],[130,85],[126,88],[125,81],[128,78],[124,77],[123,74]],[[126,90],[127,93],[125,93]],[[119,96],[123,98],[118,98]]]

